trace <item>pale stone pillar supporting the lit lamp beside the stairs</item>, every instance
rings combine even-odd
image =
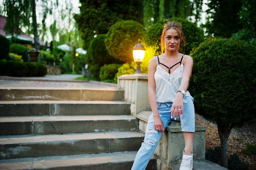
[[[124,90],[124,100],[131,103],[131,114],[151,110],[148,102],[148,74],[121,75],[118,88]]]

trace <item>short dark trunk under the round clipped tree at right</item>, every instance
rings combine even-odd
[[[227,168],[228,159],[228,139],[231,132],[231,127],[223,126],[217,123],[218,132],[220,135],[220,166]]]

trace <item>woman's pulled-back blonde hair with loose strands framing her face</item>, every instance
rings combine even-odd
[[[180,24],[180,22],[176,22],[176,21],[172,21],[172,22],[167,22],[166,24],[164,24],[164,28],[163,28],[163,32],[162,32],[162,35],[161,35],[161,50],[162,50],[162,53],[165,52],[165,46],[164,46],[164,36],[166,35],[166,31],[168,29],[176,29],[179,33],[179,37],[180,37],[180,45],[181,43],[184,43],[185,42],[185,38],[184,38],[184,35],[183,35],[183,32],[182,32],[182,25]],[[178,48],[178,51],[180,52],[180,46]]]

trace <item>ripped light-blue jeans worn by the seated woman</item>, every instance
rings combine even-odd
[[[159,116],[162,120],[164,129],[171,123],[171,121],[180,121],[182,132],[195,132],[195,109],[193,104],[193,97],[189,94],[184,96],[183,99],[183,113],[182,116],[174,120],[171,119],[172,103],[158,103],[157,109]],[[153,155],[157,144],[162,137],[162,132],[157,131],[154,128],[154,117],[153,114],[150,115],[148,119],[148,124],[145,132],[144,141],[137,152],[135,161],[133,162],[131,170],[145,170],[151,156]]]

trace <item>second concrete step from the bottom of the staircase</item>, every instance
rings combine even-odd
[[[136,151],[143,138],[131,131],[0,137],[0,159]]]

